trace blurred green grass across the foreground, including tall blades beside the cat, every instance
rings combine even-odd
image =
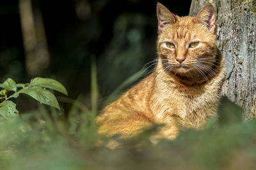
[[[129,78],[106,99],[111,102]],[[98,111],[96,66],[92,65],[92,106],[76,100],[63,113],[39,106],[8,122],[0,122],[0,169],[253,169],[256,167],[256,120],[243,121],[241,109],[221,100],[220,118],[212,118],[204,131],[182,132],[175,141],[148,141],[151,129],[109,150],[97,145],[94,123]],[[103,140],[108,142],[109,139]]]

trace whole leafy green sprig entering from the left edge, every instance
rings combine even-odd
[[[54,94],[47,89],[56,90],[68,95],[65,87],[58,81],[51,78],[34,78],[30,83],[15,83],[12,78],[8,78],[4,83],[0,84],[0,115],[5,119],[19,117],[19,111],[16,104],[10,101],[12,98],[25,94],[32,97],[41,104],[47,104],[60,110],[60,106]]]

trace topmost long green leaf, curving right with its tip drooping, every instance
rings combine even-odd
[[[52,80],[51,78],[35,78],[32,80],[31,85],[57,90],[58,92],[68,96],[68,92],[65,87],[59,81]]]

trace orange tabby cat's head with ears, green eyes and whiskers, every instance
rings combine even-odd
[[[216,57],[212,4],[206,4],[196,17],[179,17],[157,3],[157,18],[157,52],[165,71],[182,76],[211,71]]]

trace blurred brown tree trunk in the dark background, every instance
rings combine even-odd
[[[31,0],[19,0],[20,25],[26,54],[26,71],[38,76],[49,66],[49,51],[40,8],[33,9]]]

